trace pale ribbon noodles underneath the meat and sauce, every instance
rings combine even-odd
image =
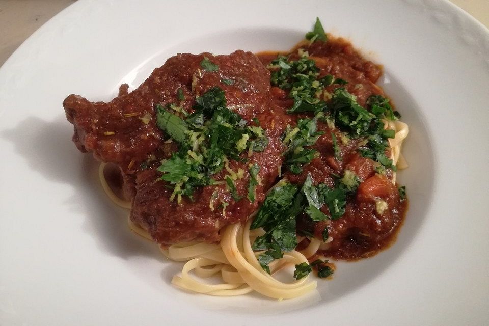
[[[385,128],[395,131],[395,137],[389,139],[391,159],[398,169],[408,167],[401,154],[402,141],[408,135],[408,125],[400,121],[385,121]],[[112,191],[104,174],[105,164],[100,164],[99,178],[107,196],[118,206],[130,209],[131,203],[123,200]],[[396,175],[393,175],[395,183]],[[318,250],[327,249],[330,237],[326,241],[315,238],[310,239],[306,248],[301,251],[284,253],[282,259],[269,264],[271,275],[267,274],[260,266],[257,257],[263,252],[254,252],[252,243],[255,238],[264,233],[262,229],[250,230],[251,218],[245,226],[240,223],[229,225],[225,228],[220,244],[204,242],[185,242],[173,244],[161,252],[171,260],[186,261],[183,265],[181,276],[175,275],[172,284],[183,289],[216,296],[233,296],[256,291],[265,296],[285,299],[302,296],[316,288],[316,281],[309,282],[306,276],[291,283],[284,283],[274,278],[279,270],[287,265],[308,263],[308,259],[316,255]],[[128,218],[128,225],[132,231],[142,237],[152,240],[149,233],[135,225]],[[301,240],[301,239],[300,239]],[[195,278],[193,275],[200,278]],[[205,283],[202,279],[208,279],[219,275],[222,283]]]

